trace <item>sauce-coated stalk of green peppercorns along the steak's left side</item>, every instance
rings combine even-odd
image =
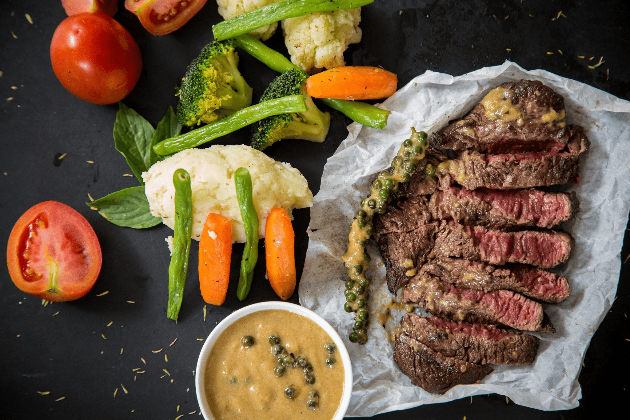
[[[387,203],[391,201],[392,191],[398,190],[399,183],[411,179],[418,162],[425,157],[428,145],[427,133],[416,132],[416,129],[412,127],[411,137],[404,140],[398,154],[392,160],[393,173],[381,171],[370,186],[370,196],[361,201],[361,209],[358,210],[357,217],[350,225],[348,249],[341,259],[343,259],[346,273],[350,276],[350,279],[346,281],[346,290],[343,292],[346,297],[343,309],[355,314],[353,331],[348,336],[352,343],[367,343],[369,316],[367,289],[370,282],[365,278],[365,270],[370,263],[370,255],[367,253],[366,246],[374,232],[372,224],[374,213],[385,213]]]

